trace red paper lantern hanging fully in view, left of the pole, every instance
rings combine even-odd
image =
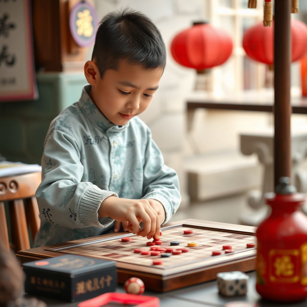
[[[174,37],[171,52],[179,64],[203,70],[227,61],[232,52],[232,40],[222,29],[196,23]]]

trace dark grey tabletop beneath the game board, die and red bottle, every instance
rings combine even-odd
[[[249,272],[250,276],[248,282],[248,291],[245,296],[238,297],[223,297],[220,296],[217,289],[216,281],[204,282],[195,286],[182,288],[167,293],[158,293],[153,291],[145,291],[144,295],[156,296],[160,299],[161,307],[222,307],[230,301],[248,301],[250,303],[258,304],[258,307],[277,307],[281,306],[280,303],[273,303],[264,301],[255,290],[256,274],[255,272]],[[119,285],[116,292],[124,292],[123,286]],[[32,297],[29,294],[25,294],[24,297]],[[36,296],[37,297],[37,296]],[[76,307],[79,302],[68,303],[64,301],[58,301],[54,299],[37,297],[38,299],[45,301],[48,307]],[[300,303],[282,304],[287,307],[306,307],[307,300]],[[106,307],[111,306],[127,306],[121,304],[108,304]]]

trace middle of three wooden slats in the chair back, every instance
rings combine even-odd
[[[22,199],[9,202],[12,236],[15,240],[15,251],[30,248],[29,232]]]

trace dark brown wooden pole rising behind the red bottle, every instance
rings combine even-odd
[[[274,19],[274,186],[280,177],[291,177],[290,64],[291,0],[275,1]]]

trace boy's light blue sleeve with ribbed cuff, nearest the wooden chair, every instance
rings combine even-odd
[[[98,221],[97,211],[104,199],[117,194],[81,182],[83,171],[76,139],[62,130],[50,132],[42,157],[42,182],[36,191],[39,211],[50,223],[83,228],[113,222],[110,217]]]

